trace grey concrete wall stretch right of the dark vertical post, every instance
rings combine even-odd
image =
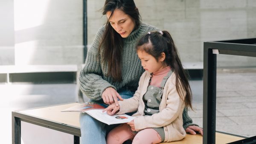
[[[183,62],[203,61],[203,42],[256,37],[255,0],[134,0],[143,22],[168,30]],[[105,0],[87,0],[88,44],[106,18]],[[218,66],[256,66],[256,58],[218,55]]]

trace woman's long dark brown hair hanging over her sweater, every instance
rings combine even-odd
[[[141,17],[139,10],[135,6],[134,0],[106,0],[105,5],[102,8],[102,14],[111,12],[110,17],[114,10],[122,10],[125,14],[128,14],[135,21],[134,29],[138,29],[141,23]],[[109,17],[109,18],[110,18]],[[113,29],[109,21],[106,21],[105,32],[102,37],[102,41],[99,44],[99,54],[102,51],[104,62],[108,63],[108,76],[112,76],[114,81],[122,81],[122,48],[123,39]]]

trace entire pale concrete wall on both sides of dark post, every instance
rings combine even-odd
[[[105,23],[105,0],[87,0],[88,45]],[[29,5],[27,5],[29,3]],[[143,22],[168,30],[183,62],[203,61],[203,42],[256,37],[255,0],[135,0]],[[0,65],[81,64],[82,0],[1,0]],[[218,66],[256,58],[218,55]]]

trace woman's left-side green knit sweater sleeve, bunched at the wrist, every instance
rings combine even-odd
[[[80,71],[79,84],[81,92],[88,98],[93,100],[100,100],[102,98],[102,92],[108,88],[113,87],[108,81],[102,78],[101,60],[99,56],[99,43],[102,39],[104,27],[99,29],[92,46],[87,52],[87,57],[84,63],[84,67]]]

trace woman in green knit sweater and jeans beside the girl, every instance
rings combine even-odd
[[[106,0],[103,15],[106,25],[99,29],[87,53],[85,66],[79,75],[80,89],[90,101],[115,103],[131,98],[144,72],[136,53],[137,41],[148,32],[159,31],[141,22],[134,0]],[[106,144],[106,133],[115,125],[107,126],[90,115],[80,115],[83,144]],[[203,130],[183,111],[183,127],[196,134]]]

